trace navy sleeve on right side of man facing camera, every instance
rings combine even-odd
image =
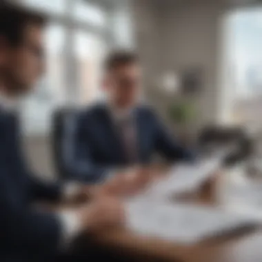
[[[194,154],[190,150],[183,148],[179,144],[179,142],[174,139],[172,134],[168,132],[168,129],[165,128],[163,123],[157,119],[156,116],[154,118],[154,124],[156,128],[156,149],[157,152],[163,154],[165,158],[170,161],[174,160],[185,160],[185,161],[193,161]]]

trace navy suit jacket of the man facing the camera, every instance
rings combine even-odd
[[[155,152],[170,161],[193,159],[192,152],[179,145],[149,108],[136,108],[134,123],[138,163],[150,163]],[[110,110],[105,104],[80,112],[74,123],[68,124],[63,152],[67,173],[81,181],[101,181],[114,168],[128,165]]]

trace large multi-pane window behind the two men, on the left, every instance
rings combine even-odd
[[[50,16],[47,72],[23,104],[28,135],[46,135],[52,113],[99,97],[101,61],[114,46],[132,45],[129,0],[22,0]],[[125,18],[125,19],[123,19]]]

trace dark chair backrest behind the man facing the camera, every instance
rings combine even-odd
[[[54,159],[54,168],[59,179],[68,179],[70,174],[65,165],[63,158],[64,143],[66,143],[66,128],[68,121],[77,116],[75,108],[60,108],[54,112],[52,118],[52,154]],[[72,121],[73,123],[73,121]]]

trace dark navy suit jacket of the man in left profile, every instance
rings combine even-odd
[[[59,248],[59,220],[31,204],[59,195],[59,185],[38,181],[26,170],[16,118],[0,110],[0,261],[52,260]]]

